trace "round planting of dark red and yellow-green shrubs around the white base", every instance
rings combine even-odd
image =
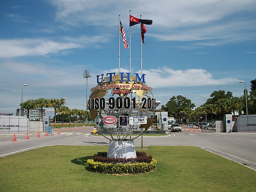
[[[88,170],[99,173],[139,174],[156,168],[157,160],[145,152],[136,151],[137,158],[108,158],[107,152],[98,152],[94,159],[88,159]]]

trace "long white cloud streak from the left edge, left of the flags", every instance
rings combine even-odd
[[[7,39],[0,40],[0,58],[19,56],[38,56],[59,53],[66,55],[70,49],[80,47],[99,47],[109,41],[109,35],[64,37],[62,41],[47,39]]]

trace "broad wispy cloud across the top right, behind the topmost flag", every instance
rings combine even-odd
[[[76,27],[115,26],[118,14],[128,27],[131,9],[133,16],[142,14],[144,19],[153,20],[153,25],[148,26],[147,36],[160,41],[212,40],[201,45],[212,46],[256,38],[253,32],[255,17],[246,18],[243,14],[254,13],[254,0],[52,0],[51,3],[57,9],[58,21]],[[127,8],[126,12],[124,8]]]

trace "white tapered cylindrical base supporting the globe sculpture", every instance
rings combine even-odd
[[[136,156],[133,140],[125,140],[125,141],[110,140],[108,145],[107,157],[136,158],[137,156]]]

